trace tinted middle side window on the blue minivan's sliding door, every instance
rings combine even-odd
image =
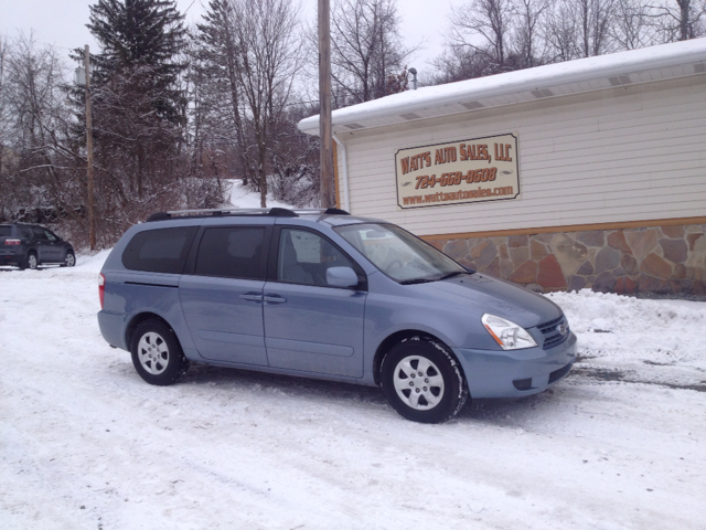
[[[264,226],[206,229],[199,245],[195,274],[265,279],[261,266]]]

